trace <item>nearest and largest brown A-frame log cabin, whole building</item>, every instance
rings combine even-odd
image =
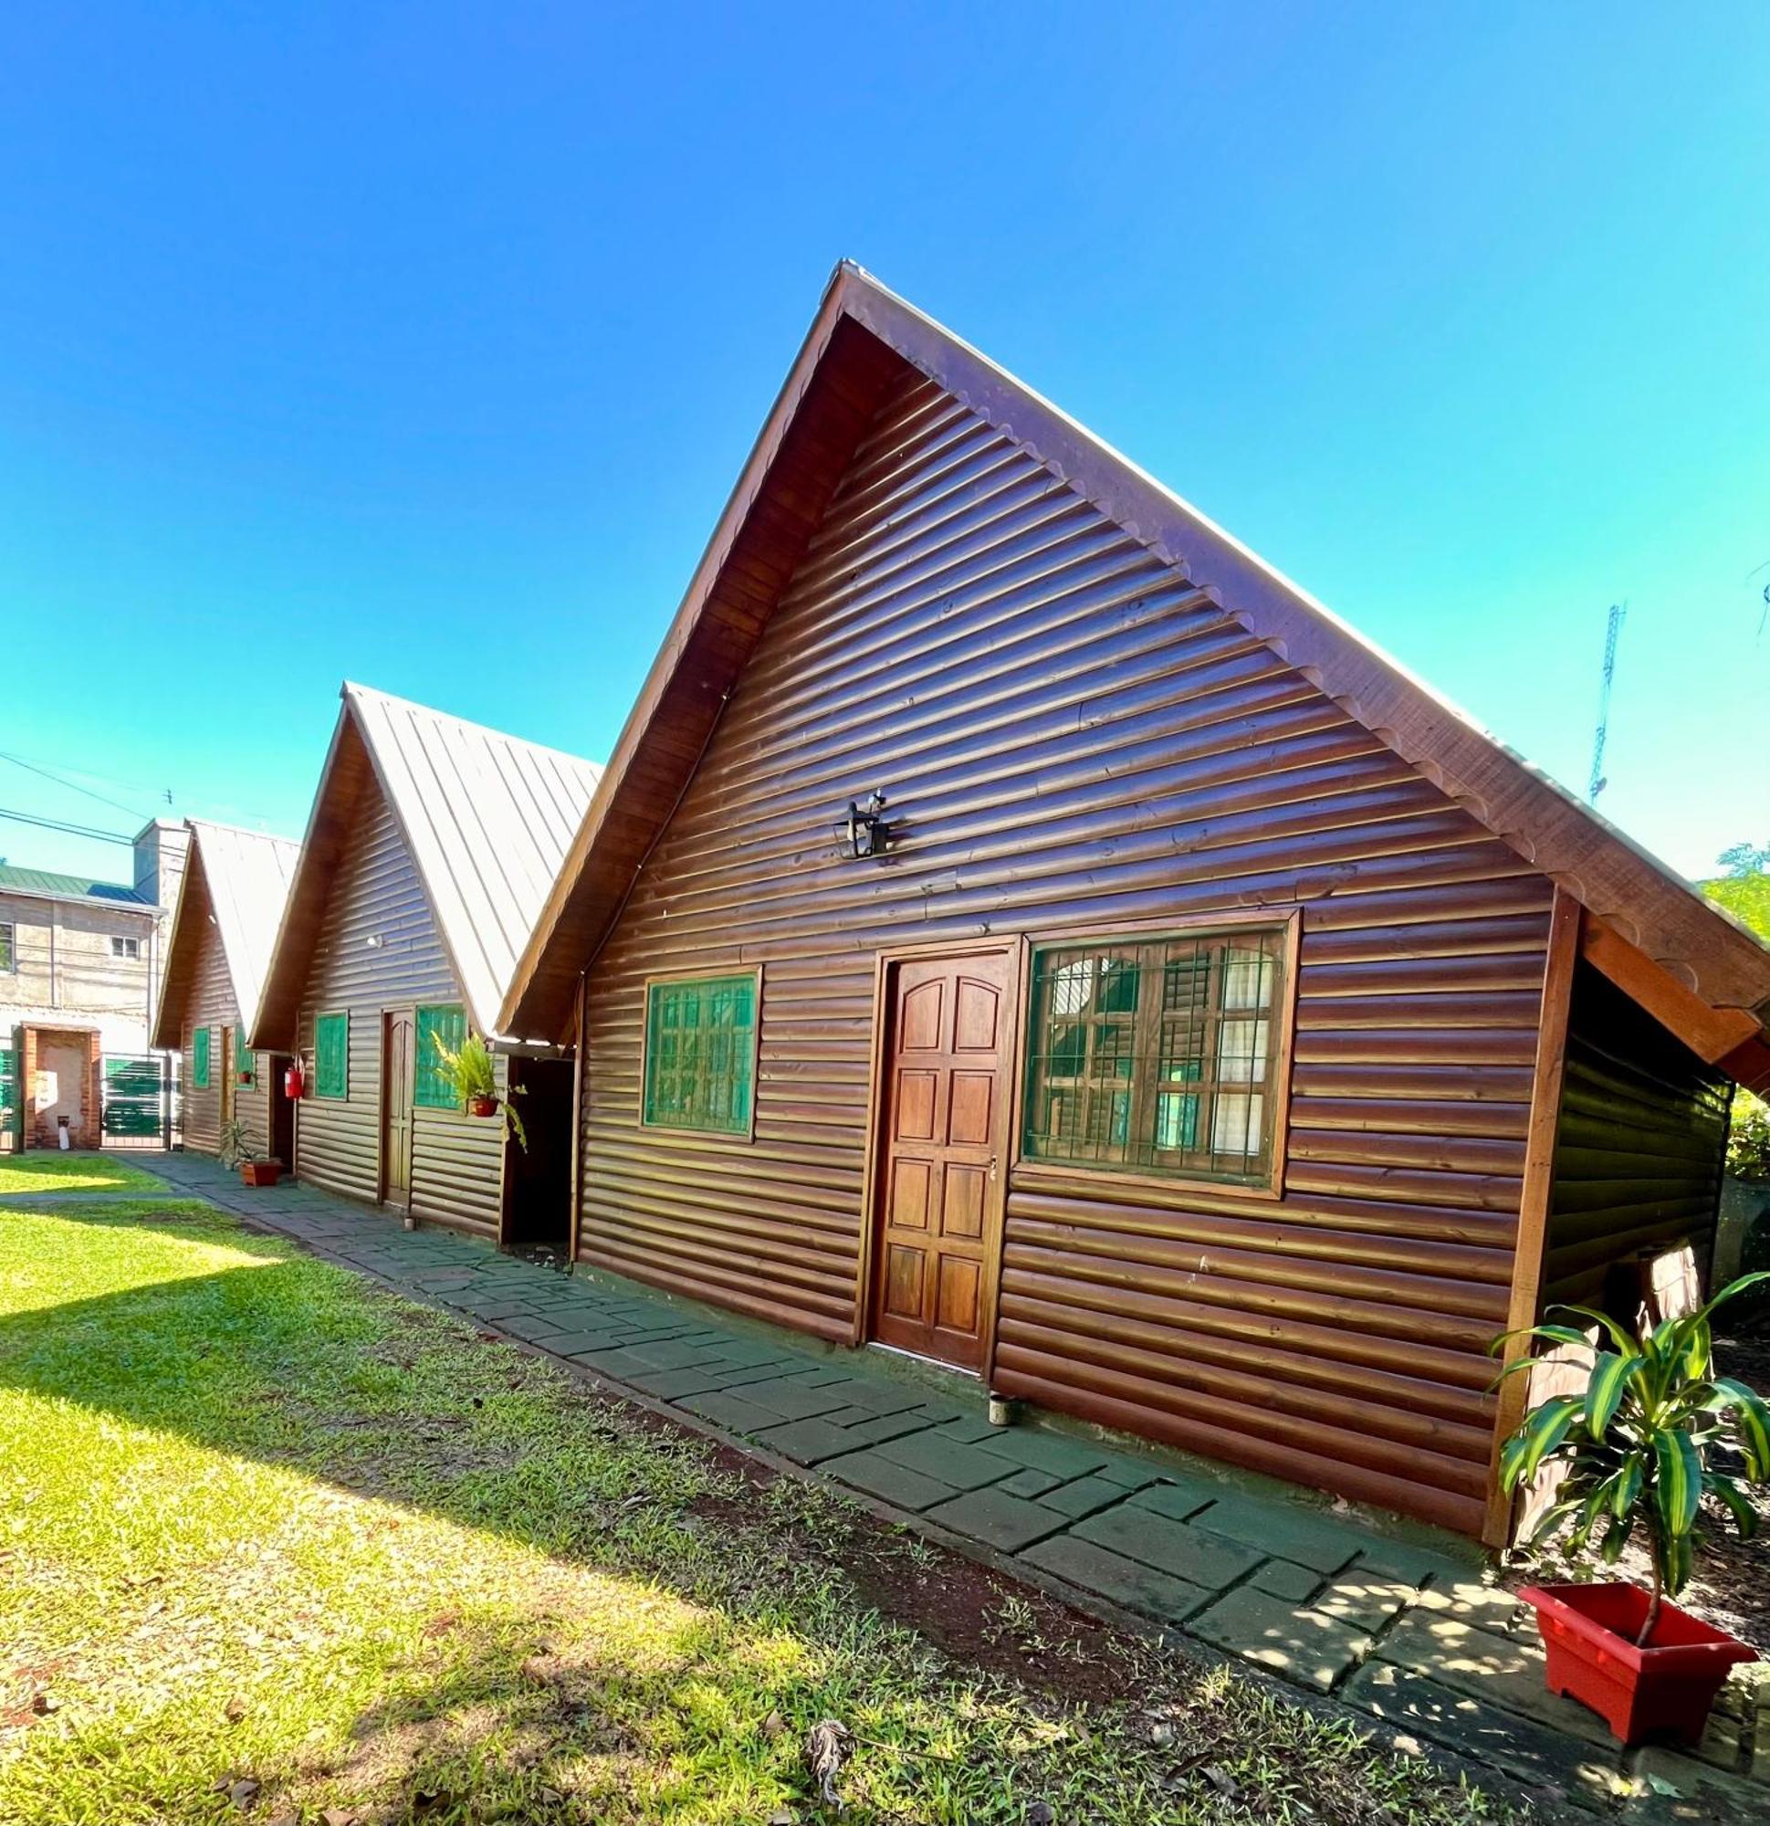
[[[1766,1015],[1743,928],[845,265],[500,1021],[580,1037],[582,1260],[1498,1541],[1489,1342],[1702,1253]]]

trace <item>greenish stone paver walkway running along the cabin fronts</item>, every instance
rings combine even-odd
[[[1243,1656],[1551,1797],[1642,1819],[1757,1819],[1770,1806],[1755,1786],[1770,1780],[1770,1684],[1728,1689],[1693,1757],[1624,1757],[1593,1713],[1546,1691],[1531,1612],[1451,1537],[1361,1528],[1307,1495],[1077,1430],[993,1428],[960,1379],[611,1275],[553,1273],[449,1231],[405,1231],[312,1187],[248,1189],[204,1156],[135,1165],[1035,1583]]]

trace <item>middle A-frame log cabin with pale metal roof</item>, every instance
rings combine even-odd
[[[600,769],[347,683],[252,1044],[305,1068],[299,1180],[505,1244],[564,1245],[569,1048],[496,1052],[527,1149],[462,1110],[434,1037],[498,1004]]]

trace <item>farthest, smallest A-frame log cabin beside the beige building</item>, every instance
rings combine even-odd
[[[223,1123],[246,1127],[254,1150],[294,1165],[294,1107],[283,1059],[257,1055],[257,1019],[301,845],[261,831],[188,820],[190,851],[172,933],[153,1044],[182,1054],[184,1145],[215,1152]]]

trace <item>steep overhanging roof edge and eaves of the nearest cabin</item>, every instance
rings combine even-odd
[[[836,268],[529,939],[500,1024],[560,1034],[887,387],[914,369],[1206,590],[1591,915],[1589,955],[1704,1059],[1770,1081],[1770,950],[1133,462],[850,263]],[[832,818],[839,807],[832,809]]]

